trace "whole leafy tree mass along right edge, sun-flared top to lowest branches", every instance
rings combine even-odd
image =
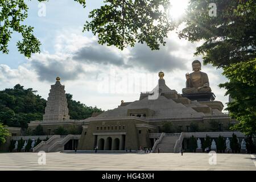
[[[209,4],[216,3],[217,16],[209,16]],[[180,38],[204,43],[195,55],[203,55],[204,63],[224,70],[229,82],[221,84],[234,98],[227,110],[240,123],[236,129],[254,135],[255,131],[255,20],[254,0],[191,0],[185,28]]]

